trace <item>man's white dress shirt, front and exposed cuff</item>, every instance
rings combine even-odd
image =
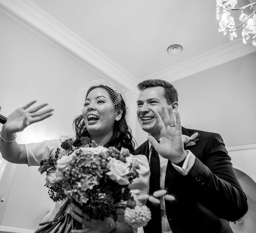
[[[161,140],[161,138],[159,140]],[[151,150],[152,150],[152,145],[149,142],[149,160],[150,160]],[[196,159],[195,155],[190,150],[185,150],[185,151],[187,152],[188,155],[187,155],[182,167],[179,167],[172,163],[174,168],[182,175],[188,174],[189,170],[194,165],[195,159]],[[159,155],[159,159],[160,159],[160,188],[165,189],[164,183],[165,183],[165,174],[166,174],[168,159],[163,158],[160,154],[158,154],[158,155]],[[169,222],[168,222],[168,219],[166,216],[164,197],[161,197],[160,201],[161,201],[161,210],[163,212],[162,233],[172,233],[172,230],[170,228],[170,225],[169,225]]]

